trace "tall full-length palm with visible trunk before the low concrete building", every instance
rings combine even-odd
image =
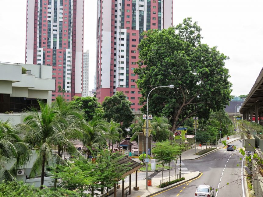
[[[45,104],[41,100],[38,100],[38,104],[40,111],[35,107],[26,110],[28,115],[19,127],[25,133],[24,142],[34,145],[37,154],[37,159],[33,164],[29,177],[41,172],[40,188],[43,189],[45,167],[49,161],[54,164],[68,165],[58,154],[52,151],[54,146],[63,144],[68,152],[74,152],[77,157],[82,155],[75,149],[72,142],[66,138],[67,132],[62,126],[65,119],[61,118],[56,108]]]

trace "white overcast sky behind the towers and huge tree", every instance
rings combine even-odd
[[[109,0],[106,0],[109,1]],[[89,90],[94,87],[96,4],[85,0],[84,51],[90,51]],[[263,66],[262,0],[173,0],[174,21],[192,17],[202,28],[202,43],[229,56],[226,68],[233,95],[248,94]],[[0,0],[0,61],[25,62],[26,0]]]

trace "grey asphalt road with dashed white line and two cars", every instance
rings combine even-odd
[[[154,196],[194,197],[198,185],[211,185],[212,188],[219,188],[217,192],[214,190],[215,197],[246,197],[243,196],[240,176],[242,166],[240,158],[243,159],[243,156],[238,152],[242,143],[238,140],[231,144],[237,147],[237,151],[227,151],[223,148],[196,160],[183,160],[190,172],[202,172],[201,177]]]

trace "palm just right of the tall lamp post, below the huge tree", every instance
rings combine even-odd
[[[173,132],[169,130],[172,125],[169,125],[169,120],[166,117],[154,116],[151,122],[154,140],[161,142],[173,136]],[[167,138],[168,137],[168,138]]]

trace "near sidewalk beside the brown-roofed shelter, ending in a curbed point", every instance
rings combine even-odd
[[[185,174],[185,180],[180,181],[180,182],[175,183],[175,184],[172,184],[172,185],[169,185],[165,188],[158,188],[157,187],[160,185],[161,178],[152,178],[152,186],[148,186],[148,189],[145,189],[145,180],[138,180],[138,186],[140,186],[140,190],[138,190],[138,191],[133,190],[133,187],[135,186],[135,181],[133,181],[133,182],[131,182],[131,186],[132,186],[131,187],[131,194],[129,195],[129,190],[127,190],[127,192],[128,192],[127,196],[129,196],[129,197],[151,196],[151,195],[154,195],[155,193],[161,192],[165,189],[175,187],[176,185],[180,185],[180,184],[185,183],[187,181],[190,181],[194,178],[197,178],[199,175],[200,175],[199,171],[192,172],[190,174]],[[174,180],[174,176],[170,176],[170,181],[172,181],[172,180]],[[167,181],[169,181],[169,177],[163,177],[163,182],[167,182]],[[126,188],[128,185],[129,185],[129,182],[126,182],[124,184],[124,188]],[[113,189],[113,191],[114,191],[114,189]],[[126,196],[126,190],[124,191],[124,194],[125,194],[124,196]],[[113,197],[114,194],[111,194],[110,196]],[[122,188],[117,189],[116,196],[117,197],[122,196]]]

